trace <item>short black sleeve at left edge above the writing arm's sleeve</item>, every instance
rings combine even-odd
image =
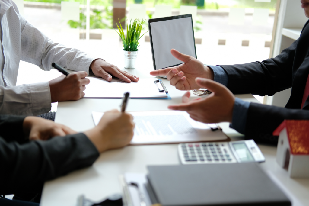
[[[23,134],[23,120],[25,118],[25,116],[0,115],[0,136],[7,142],[27,142],[28,137]]]

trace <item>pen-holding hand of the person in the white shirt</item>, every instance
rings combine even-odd
[[[78,71],[50,80],[48,83],[52,102],[78,100],[85,96],[85,85],[90,82],[86,76],[87,72]]]

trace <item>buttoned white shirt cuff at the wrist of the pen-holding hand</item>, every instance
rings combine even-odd
[[[48,82],[30,84],[33,116],[47,113],[51,109],[52,99]]]

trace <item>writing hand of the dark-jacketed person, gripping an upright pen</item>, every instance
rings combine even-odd
[[[99,124],[84,134],[99,152],[120,148],[129,144],[133,137],[134,122],[131,114],[114,109],[105,112]]]

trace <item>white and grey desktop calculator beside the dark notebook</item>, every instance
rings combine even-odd
[[[264,162],[253,139],[233,142],[199,142],[178,145],[182,164]]]

